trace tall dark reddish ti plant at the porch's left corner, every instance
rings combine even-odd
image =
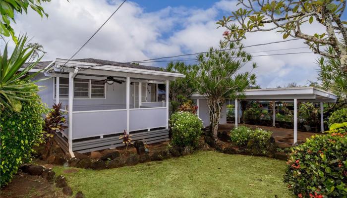
[[[53,146],[53,138],[55,133],[64,131],[67,126],[66,119],[63,116],[65,113],[61,111],[62,103],[59,102],[58,104],[53,104],[53,108],[51,111],[46,115],[45,118],[45,124],[43,126],[43,132],[44,132],[44,139],[46,141],[46,151],[47,156],[51,154],[52,146]]]

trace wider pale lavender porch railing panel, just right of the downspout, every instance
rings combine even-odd
[[[121,133],[126,129],[126,109],[74,111],[72,139]]]

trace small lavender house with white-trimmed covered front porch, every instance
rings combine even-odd
[[[124,130],[147,144],[169,139],[169,81],[183,74],[94,58],[43,61],[30,72],[49,77],[37,83],[44,103],[62,102],[68,129],[55,138],[72,156],[122,146]]]

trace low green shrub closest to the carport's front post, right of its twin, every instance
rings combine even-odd
[[[247,148],[249,148],[253,154],[265,154],[268,151],[267,143],[271,135],[271,131],[266,131],[261,128],[253,130],[253,133],[250,134]]]

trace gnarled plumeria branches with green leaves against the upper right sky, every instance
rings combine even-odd
[[[226,42],[246,39],[246,32],[278,30],[283,39],[289,36],[303,39],[314,53],[340,59],[340,69],[347,72],[347,22],[341,20],[346,0],[238,0],[238,4],[242,7],[217,22],[219,27],[227,29],[223,34]],[[313,21],[326,31],[322,34],[303,33],[303,24]],[[326,45],[336,53],[320,49]]]

